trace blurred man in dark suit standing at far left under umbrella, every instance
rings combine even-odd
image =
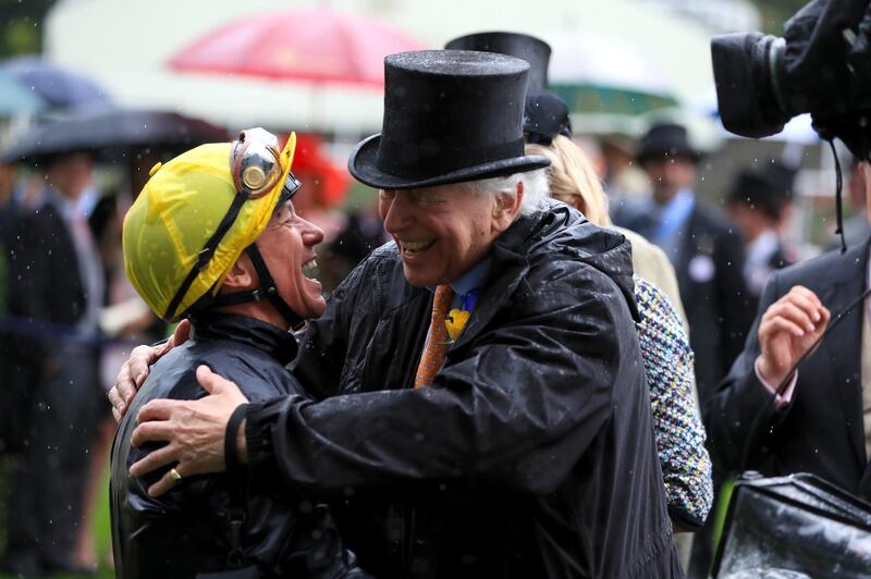
[[[16,322],[9,387],[26,401],[13,480],[4,571],[77,570],[87,451],[98,421],[97,334],[102,270],[78,199],[91,180],[86,153],[46,163],[45,204],[22,215],[10,251]]]

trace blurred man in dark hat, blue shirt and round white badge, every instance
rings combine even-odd
[[[650,176],[652,196],[627,207],[617,225],[662,247],[674,264],[703,402],[740,353],[750,318],[740,236],[692,192],[699,159],[685,127],[651,127],[641,139],[638,163]]]

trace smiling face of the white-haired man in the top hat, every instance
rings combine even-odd
[[[381,190],[378,197],[405,279],[417,287],[451,283],[480,261],[516,215],[507,221],[505,210],[504,199],[462,185]]]

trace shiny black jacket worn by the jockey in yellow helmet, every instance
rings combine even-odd
[[[226,517],[241,503],[247,516],[241,546],[262,576],[359,577],[329,509],[300,500],[278,477],[249,469],[191,477],[152,498],[147,489],[165,470],[145,479],[127,476],[130,466],[151,449],[130,445],[146,402],[205,396],[195,377],[203,364],[238,384],[250,401],[298,393],[283,366],[295,353],[289,332],[253,318],[213,315],[195,320],[193,338],[155,365],[112,448],[112,543],[119,578],[193,578],[225,569],[231,546]],[[237,486],[229,486],[231,476]]]

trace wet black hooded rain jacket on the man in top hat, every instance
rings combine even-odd
[[[300,343],[320,398],[247,415],[249,458],[336,496],[378,577],[679,577],[623,236],[556,204],[500,236],[432,387],[432,294],[376,250]]]

